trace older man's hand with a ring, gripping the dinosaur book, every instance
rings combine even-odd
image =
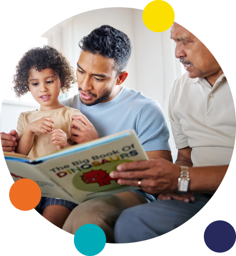
[[[140,187],[149,194],[177,192],[180,167],[164,158],[134,161],[117,166],[110,177],[121,185]],[[141,185],[139,186],[139,181]]]

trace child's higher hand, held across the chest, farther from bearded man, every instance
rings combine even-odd
[[[26,128],[31,132],[43,132],[47,134],[53,129],[54,119],[51,116],[40,117],[32,122],[30,122]]]

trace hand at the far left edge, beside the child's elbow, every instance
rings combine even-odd
[[[2,151],[14,153],[17,142],[19,141],[16,130],[11,130],[10,133],[1,132],[0,137]]]

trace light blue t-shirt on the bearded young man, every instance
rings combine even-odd
[[[164,112],[157,101],[145,97],[141,91],[123,86],[111,101],[94,106],[84,105],[79,94],[63,99],[61,103],[79,109],[94,125],[100,138],[126,129],[134,129],[146,152],[171,151]],[[157,200],[153,195],[141,190],[132,192],[142,196],[148,203]]]

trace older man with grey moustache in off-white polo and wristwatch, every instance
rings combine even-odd
[[[126,209],[115,225],[116,243],[152,239],[188,221],[218,189],[232,158],[236,112],[221,66],[199,38],[176,22],[171,39],[176,43],[176,57],[187,71],[174,81],[169,98],[177,161],[172,164],[160,158],[126,163],[110,176],[120,184],[140,186],[153,195],[161,193],[159,199],[179,201],[155,201]],[[195,193],[194,198],[189,192]]]

